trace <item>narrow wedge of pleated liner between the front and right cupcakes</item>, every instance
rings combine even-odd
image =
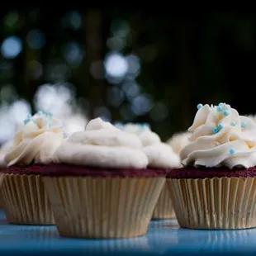
[[[167,183],[164,183],[164,187],[160,192],[159,200],[154,207],[152,218],[173,219],[175,217],[175,211],[173,208],[173,202],[170,198],[170,192],[168,191],[168,185]]]

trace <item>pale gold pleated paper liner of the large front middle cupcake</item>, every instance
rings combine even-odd
[[[60,235],[145,235],[165,178],[43,178]]]

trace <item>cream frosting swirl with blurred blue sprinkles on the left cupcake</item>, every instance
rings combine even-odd
[[[25,122],[14,135],[12,148],[5,156],[7,166],[49,164],[63,141],[61,122],[44,113],[29,116]]]

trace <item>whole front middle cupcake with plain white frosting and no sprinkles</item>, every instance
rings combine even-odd
[[[141,149],[137,135],[100,118],[59,146],[42,175],[60,235],[145,235],[166,172],[146,168]]]

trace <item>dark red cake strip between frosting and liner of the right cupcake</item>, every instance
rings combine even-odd
[[[179,168],[173,169],[166,178],[222,178],[222,177],[256,177],[256,167],[252,168]]]

